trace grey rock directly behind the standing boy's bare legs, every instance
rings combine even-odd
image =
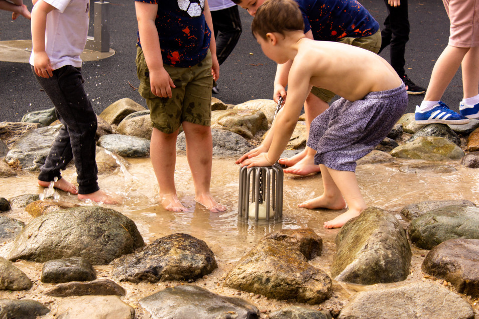
[[[215,157],[241,156],[253,148],[246,138],[236,133],[224,129],[211,129],[211,134],[213,136],[213,156]],[[178,154],[186,153],[184,132],[178,135],[176,151]]]

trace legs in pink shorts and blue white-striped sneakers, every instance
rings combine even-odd
[[[424,100],[416,106],[415,119],[428,124],[466,124],[470,118],[479,118],[479,0],[443,3],[450,20],[449,43],[432,69]],[[459,66],[463,90],[462,101],[458,101],[460,114],[440,101]]]

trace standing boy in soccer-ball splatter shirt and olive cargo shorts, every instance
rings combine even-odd
[[[211,88],[219,77],[212,21],[206,0],[135,0],[138,20],[138,91],[153,125],[151,161],[160,201],[169,211],[186,211],[176,193],[176,137],[186,135],[195,201],[211,212],[226,208],[210,193]]]

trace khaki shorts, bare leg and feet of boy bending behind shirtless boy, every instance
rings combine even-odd
[[[363,38],[342,38],[338,42],[378,53],[381,49],[381,32],[378,31],[372,36]],[[311,121],[328,108],[328,103],[334,95],[336,94],[331,91],[313,86],[311,93],[308,95],[304,103],[306,131],[308,133]],[[319,173],[321,171],[319,165],[314,164],[315,154],[316,151],[314,149],[306,146],[302,152],[290,158],[280,158],[279,163],[288,166],[287,169],[284,169],[285,173],[296,175]]]

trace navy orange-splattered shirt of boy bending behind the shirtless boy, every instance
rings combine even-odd
[[[363,38],[375,34],[379,24],[355,0],[295,0],[303,14],[304,33],[314,40],[338,41],[344,37]]]

